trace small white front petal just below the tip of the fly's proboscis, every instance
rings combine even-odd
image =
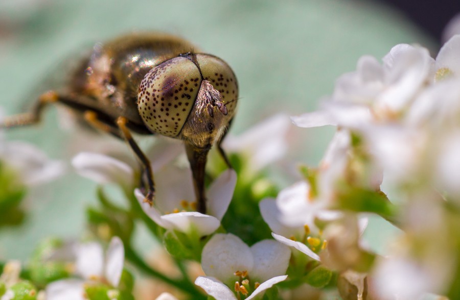
[[[220,221],[213,216],[199,212],[179,212],[161,216],[162,220],[172,225],[172,228],[183,233],[197,233],[198,236],[210,235],[215,232]]]

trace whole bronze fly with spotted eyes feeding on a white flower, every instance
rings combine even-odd
[[[7,117],[6,128],[40,121],[48,104],[71,108],[91,127],[124,139],[143,168],[146,200],[155,192],[149,159],[131,132],[181,139],[192,169],[197,211],[206,212],[204,168],[216,144],[222,147],[236,112],[238,83],[220,58],[193,51],[186,40],[166,34],[129,34],[96,44],[62,90],[39,96],[28,113]]]

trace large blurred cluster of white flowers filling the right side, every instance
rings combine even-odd
[[[452,281],[458,277],[460,251],[460,236],[453,231],[460,193],[458,53],[457,35],[435,59],[427,49],[407,44],[393,47],[383,64],[362,57],[356,71],[337,80],[321,110],[292,118],[301,127],[337,126],[337,135],[348,138],[341,150],[347,158],[331,162],[346,166],[345,177],[329,192],[346,196],[337,187],[345,181],[355,196],[359,190],[379,193],[381,173],[385,191],[396,195],[397,214],[380,214],[404,234],[393,241],[387,258],[373,264],[368,278],[383,298],[459,292]],[[339,207],[356,209],[343,200]]]

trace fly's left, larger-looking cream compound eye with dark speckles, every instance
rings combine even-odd
[[[151,69],[139,87],[137,109],[150,131],[176,137],[192,110],[201,85],[198,67],[176,57]]]

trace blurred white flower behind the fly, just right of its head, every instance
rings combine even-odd
[[[274,115],[240,136],[228,135],[223,147],[229,153],[247,156],[248,169],[257,171],[281,159],[287,152],[287,134],[291,123],[283,114]]]

